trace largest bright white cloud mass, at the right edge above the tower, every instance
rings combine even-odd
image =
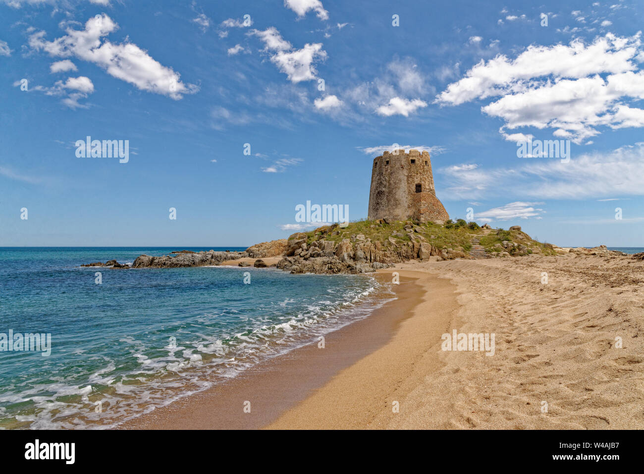
[[[498,55],[480,61],[436,102],[500,97],[482,111],[503,119],[504,128],[554,128],[554,136],[576,143],[598,135],[599,126],[641,127],[641,109],[627,103],[644,99],[644,70],[636,65],[640,36],[608,33],[591,44],[575,39],[568,45],[529,46],[515,59]]]

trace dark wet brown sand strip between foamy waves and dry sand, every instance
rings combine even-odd
[[[383,270],[375,277],[384,281],[389,280],[390,274]],[[395,285],[397,299],[375,308],[367,318],[325,335],[325,348],[319,348],[316,339],[240,372],[229,381],[122,422],[117,429],[256,429],[268,426],[338,372],[387,345],[399,325],[421,303],[423,287],[417,282],[419,278],[422,274],[401,274],[400,285]],[[251,405],[250,413],[243,411],[247,401]]]

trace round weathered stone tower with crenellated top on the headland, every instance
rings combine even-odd
[[[445,222],[450,218],[436,197],[427,151],[385,151],[374,158],[368,218],[385,217],[420,222]]]

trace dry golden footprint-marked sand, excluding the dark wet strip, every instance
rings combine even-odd
[[[269,428],[644,428],[643,262],[570,254],[398,267],[433,277],[420,280],[412,318]],[[438,277],[457,285],[455,318]],[[495,333],[495,355],[442,351],[440,333],[453,329]]]

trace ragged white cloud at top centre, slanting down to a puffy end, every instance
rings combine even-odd
[[[316,79],[317,70],[314,63],[327,58],[322,43],[307,43],[301,50],[296,50],[281,37],[274,26],[263,31],[252,30],[249,34],[256,35],[263,41],[264,51],[270,53],[270,61],[293,83]]]

